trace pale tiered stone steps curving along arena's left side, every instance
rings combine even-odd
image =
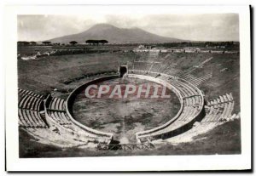
[[[64,99],[51,97],[32,91],[18,89],[19,127],[38,139],[40,143],[67,147],[96,147],[108,145],[110,139],[98,138],[84,128],[74,124],[66,112]],[[45,102],[49,101],[47,105]]]

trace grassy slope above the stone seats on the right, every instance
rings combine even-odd
[[[199,65],[209,58],[212,60],[201,68],[196,68],[190,74],[202,77],[212,73],[212,78],[203,82],[199,88],[209,99],[232,93],[235,99],[234,112],[240,111],[240,58],[238,54],[160,54],[159,60],[166,65],[175,63],[169,71],[171,75],[174,75],[180,71],[187,71],[193,65]]]

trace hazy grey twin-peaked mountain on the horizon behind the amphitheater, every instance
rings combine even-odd
[[[50,41],[51,43],[69,43],[71,41],[84,43],[89,39],[104,39],[108,40],[108,43],[170,43],[183,41],[172,37],[161,37],[139,28],[125,29],[108,24],[98,24],[90,27],[87,31],[63,37],[56,37],[47,41]]]

